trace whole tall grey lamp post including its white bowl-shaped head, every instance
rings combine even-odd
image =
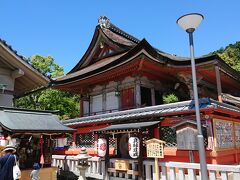
[[[197,120],[197,129],[198,129],[198,151],[200,157],[200,168],[201,168],[201,179],[207,180],[207,164],[206,164],[206,155],[204,147],[204,139],[202,135],[202,125],[200,119],[200,110],[199,110],[199,101],[198,101],[198,89],[197,89],[197,78],[196,78],[196,68],[195,68],[195,59],[194,59],[194,46],[193,46],[193,32],[199,26],[199,24],[204,19],[203,15],[198,13],[190,13],[181,16],[177,20],[177,24],[184,29],[189,35],[189,45],[190,45],[190,56],[191,56],[191,67],[192,67],[192,82],[193,82],[193,94],[195,102],[195,113]]]

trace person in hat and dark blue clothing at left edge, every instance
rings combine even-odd
[[[16,148],[12,145],[7,145],[2,153],[4,155],[0,157],[0,180],[13,180],[13,166],[15,165],[14,153]]]

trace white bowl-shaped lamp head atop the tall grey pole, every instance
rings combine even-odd
[[[187,32],[193,32],[199,24],[202,22],[204,19],[202,14],[199,13],[190,13],[181,16],[177,20],[177,24]]]

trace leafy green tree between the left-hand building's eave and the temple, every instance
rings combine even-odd
[[[63,67],[55,63],[51,56],[34,55],[28,58],[35,68],[43,74],[55,78],[64,74]],[[79,115],[79,96],[48,88],[15,100],[15,106],[39,110],[59,110],[61,119],[75,118]]]

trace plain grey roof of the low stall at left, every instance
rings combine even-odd
[[[0,107],[0,123],[10,132],[62,133],[73,129],[64,126],[50,111]]]

